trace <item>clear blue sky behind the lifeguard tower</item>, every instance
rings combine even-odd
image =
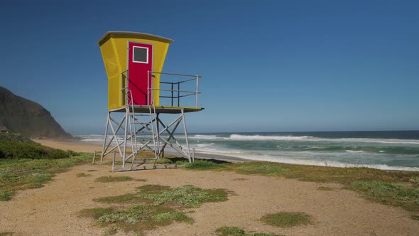
[[[107,31],[173,38],[190,132],[419,129],[418,1],[2,1],[0,85],[102,133]]]

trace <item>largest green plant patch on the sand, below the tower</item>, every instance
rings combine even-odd
[[[136,193],[94,199],[101,203],[119,204],[119,207],[92,208],[80,212],[82,217],[92,217],[102,227],[117,228],[142,233],[172,222],[192,223],[181,210],[197,208],[202,203],[227,200],[224,189],[203,190],[195,186],[170,188],[169,186],[146,185]],[[134,203],[126,207],[127,203]]]

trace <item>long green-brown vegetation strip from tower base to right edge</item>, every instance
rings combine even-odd
[[[406,210],[419,212],[417,195],[419,191],[418,172],[381,171],[364,167],[304,166],[264,161],[244,163],[200,161],[197,165],[192,163],[184,166],[191,170],[212,169],[216,171],[234,171],[245,175],[281,176],[295,178],[300,181],[341,183],[344,185],[344,188],[362,193],[369,200],[375,200],[387,205],[397,205]],[[357,182],[362,182],[363,184]],[[386,186],[386,188],[383,188],[383,186]],[[330,189],[320,187],[319,190],[328,191]]]

